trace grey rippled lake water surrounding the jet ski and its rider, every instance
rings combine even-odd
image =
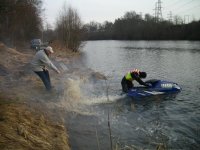
[[[113,147],[200,148],[200,42],[87,41],[74,64],[107,81],[80,85],[88,96],[83,109],[91,114],[66,117],[72,149],[110,149],[108,112]],[[133,68],[147,72],[146,80],[176,82],[182,91],[140,100],[121,96],[121,79]]]

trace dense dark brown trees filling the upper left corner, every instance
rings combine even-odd
[[[41,0],[0,0],[0,40],[9,45],[39,37]]]

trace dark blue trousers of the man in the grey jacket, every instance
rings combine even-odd
[[[50,81],[50,77],[49,77],[49,71],[48,70],[43,70],[43,71],[34,71],[42,80],[42,82],[44,83],[46,89],[49,91],[51,90],[51,81]]]

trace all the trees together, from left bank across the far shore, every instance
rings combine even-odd
[[[76,9],[63,5],[52,29],[44,26],[43,12],[43,0],[0,0],[0,41],[15,46],[34,38],[58,40],[78,51],[82,40],[200,40],[200,21],[185,24],[178,16],[173,22],[158,21],[131,11],[114,23],[83,24]]]

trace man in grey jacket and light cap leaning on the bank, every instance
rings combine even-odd
[[[60,73],[57,67],[49,59],[53,53],[54,51],[52,47],[48,46],[44,50],[39,50],[31,62],[33,71],[40,77],[48,91],[52,89],[52,86],[47,67],[52,68],[57,73]]]

